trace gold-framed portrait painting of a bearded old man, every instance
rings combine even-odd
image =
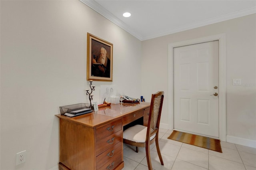
[[[87,80],[112,81],[113,44],[87,33]]]

